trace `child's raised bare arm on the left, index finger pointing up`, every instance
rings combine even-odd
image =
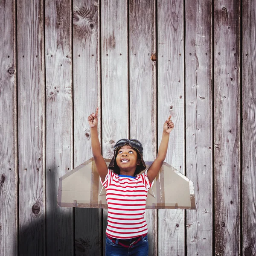
[[[97,172],[101,177],[102,181],[105,180],[106,175],[108,174],[108,166],[101,154],[101,148],[99,144],[98,137],[98,113],[99,107],[96,108],[96,113],[91,113],[88,116],[88,123],[90,125],[90,134],[91,134],[91,145],[94,161],[96,164]]]

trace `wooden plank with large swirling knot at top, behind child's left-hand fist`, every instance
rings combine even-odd
[[[75,166],[92,157],[88,116],[100,107],[99,2],[73,1]],[[101,114],[101,111],[100,113]],[[101,118],[99,118],[99,138]],[[102,254],[102,209],[75,209],[76,256]]]

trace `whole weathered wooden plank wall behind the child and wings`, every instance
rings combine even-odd
[[[0,1],[0,255],[105,254],[107,210],[58,208],[58,179],[137,138],[194,181],[197,210],[148,209],[150,256],[256,255],[256,6]],[[151,55],[154,58],[151,59]]]

